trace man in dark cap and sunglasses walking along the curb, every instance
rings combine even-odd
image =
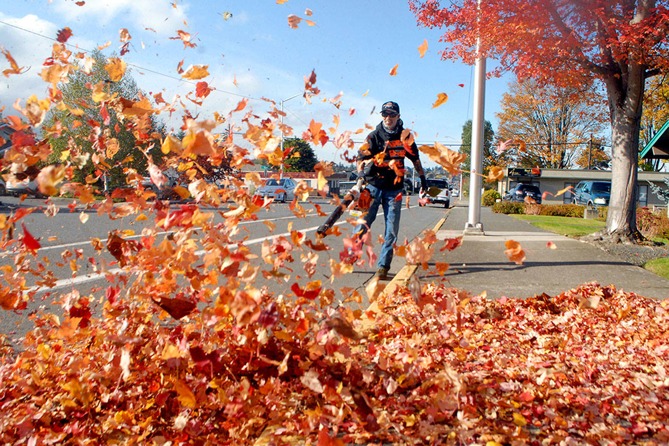
[[[381,106],[383,120],[367,136],[367,144],[358,154],[358,177],[367,182],[371,195],[371,205],[365,214],[365,223],[355,228],[354,237],[362,237],[376,219],[379,206],[383,206],[385,233],[377,263],[376,277],[387,280],[390,262],[393,259],[393,245],[399,231],[399,215],[402,209],[404,187],[404,158],[407,157],[420,176],[421,198],[427,193],[427,181],[423,166],[418,158],[418,148],[409,130],[405,130],[399,118],[397,102],[385,102]]]

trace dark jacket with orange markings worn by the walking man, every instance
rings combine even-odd
[[[415,142],[405,148],[400,141],[399,137],[402,134],[403,123],[402,120],[397,121],[397,126],[395,126],[395,131],[389,133],[383,128],[383,122],[380,122],[377,125],[377,128],[373,130],[367,136],[367,144],[369,145],[369,153],[363,153],[362,151],[358,153],[359,160],[369,160],[374,158],[374,155],[377,153],[385,152],[383,156],[383,162],[376,164],[371,162],[364,167],[365,180],[367,183],[377,187],[379,189],[385,189],[387,191],[397,191],[403,189],[404,179],[403,177],[399,181],[395,181],[397,175],[395,171],[389,166],[389,163],[392,160],[395,160],[395,166],[397,169],[404,169],[404,158],[409,158],[412,162],[418,159],[418,148],[416,147]]]

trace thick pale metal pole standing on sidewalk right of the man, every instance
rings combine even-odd
[[[480,0],[479,0],[480,1]],[[481,39],[476,39],[476,52],[480,51]],[[486,58],[476,59],[474,68],[474,116],[472,117],[472,174],[469,179],[469,214],[465,233],[483,233],[481,223],[481,177],[483,172],[484,104],[486,96]]]

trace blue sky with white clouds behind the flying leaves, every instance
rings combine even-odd
[[[0,107],[13,111],[17,98],[45,96],[46,85],[39,78],[41,63],[50,55],[53,41],[63,27],[70,27],[68,40],[80,49],[93,49],[107,41],[106,55],[120,46],[118,31],[128,29],[130,52],[123,59],[132,64],[132,76],[145,92],[163,92],[166,100],[175,94],[185,97],[195,86],[184,82],[175,71],[183,60],[209,65],[204,80],[217,91],[195,106],[183,99],[192,114],[209,118],[218,111],[227,114],[242,98],[263,116],[268,104],[294,96],[304,88],[304,76],[316,72],[321,94],[311,105],[301,98],[285,102],[286,124],[302,134],[310,120],[332,126],[339,112],[338,132],[355,131],[365,124],[380,121],[379,108],[395,100],[401,108],[405,127],[417,134],[417,142],[458,144],[462,124],[472,115],[472,67],[440,60],[439,29],[418,27],[404,1],[182,1],[176,7],[168,0],[86,0],[78,6],[72,0],[14,0],[0,11],[0,45],[10,51],[19,66],[30,67],[20,76],[0,78]],[[312,15],[306,15],[310,9]],[[227,20],[223,17],[230,13]],[[288,26],[288,15],[304,20],[297,29]],[[5,25],[9,23],[15,27]],[[28,31],[23,31],[22,29]],[[148,29],[147,29],[148,28]],[[184,48],[177,29],[194,35],[193,48]],[[36,35],[36,34],[39,35]],[[417,47],[427,40],[423,58]],[[488,70],[494,61],[488,61]],[[397,75],[389,72],[397,65]],[[9,64],[2,58],[0,70]],[[512,78],[492,78],[486,82],[486,119],[496,128],[494,113],[499,111],[501,95]],[[236,85],[234,81],[236,80]],[[460,87],[459,84],[464,84]],[[341,108],[329,101],[343,92]],[[366,96],[365,93],[367,92]],[[432,108],[438,94],[448,101]],[[349,116],[349,109],[355,109]],[[374,111],[373,111],[374,110]],[[161,116],[163,117],[163,116]],[[169,126],[175,119],[163,117]],[[239,122],[237,122],[239,124]],[[367,131],[358,135],[362,140]],[[241,139],[241,138],[240,138]],[[242,145],[242,141],[238,141]],[[315,148],[320,159],[341,162],[332,144]]]

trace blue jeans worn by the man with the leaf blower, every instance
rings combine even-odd
[[[372,185],[367,185],[367,189],[371,194],[373,201],[365,217],[365,223],[361,223],[355,227],[355,233],[363,235],[371,227],[379,212],[379,206],[383,205],[383,217],[385,217],[385,233],[383,234],[383,246],[381,246],[381,254],[379,254],[379,261],[377,268],[390,268],[390,262],[393,259],[393,245],[397,241],[397,233],[399,232],[399,214],[402,210],[402,201],[395,200],[397,195],[402,192],[402,189],[397,191],[387,191],[384,189],[377,189]]]

